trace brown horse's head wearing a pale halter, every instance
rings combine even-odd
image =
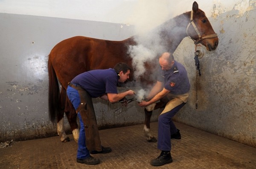
[[[212,29],[212,25],[205,16],[204,11],[198,9],[198,3],[194,2],[190,13],[190,22],[186,28],[187,35],[195,42],[206,46],[208,51],[215,50],[218,46],[218,36]]]

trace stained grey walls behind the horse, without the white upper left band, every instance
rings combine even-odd
[[[175,51],[191,83],[189,101],[175,120],[256,147],[256,2],[209,4],[212,9],[206,13],[218,34],[219,46],[215,52],[201,47],[204,56],[198,80],[192,40],[185,38]],[[56,43],[76,35],[108,40],[134,35],[133,26],[86,20],[0,13],[0,21],[0,141],[56,135],[47,106],[47,55]],[[118,103],[93,101],[99,126],[144,121],[143,109],[135,102],[115,112]],[[157,120],[157,112],[152,120]],[[66,127],[68,130],[67,123]]]

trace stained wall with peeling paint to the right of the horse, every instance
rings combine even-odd
[[[256,147],[256,4],[242,12],[239,5],[210,18],[219,44],[215,52],[199,48],[204,53],[201,76],[196,77],[190,39],[175,51],[177,60],[189,69],[191,83],[189,102],[175,119]]]

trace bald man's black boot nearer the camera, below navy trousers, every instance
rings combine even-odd
[[[168,163],[172,163],[172,156],[170,151],[162,151],[156,159],[150,161],[152,166],[163,166],[164,164]]]

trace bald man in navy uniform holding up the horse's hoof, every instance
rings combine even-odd
[[[189,78],[185,67],[174,60],[171,53],[165,52],[159,58],[160,75],[157,83],[151,89],[145,100],[139,106],[146,106],[148,111],[154,109],[155,102],[167,97],[169,100],[158,117],[158,143],[157,148],[161,154],[151,160],[151,165],[162,166],[172,163],[171,138],[181,139],[180,132],[172,122],[172,117],[186,104],[189,96]]]

